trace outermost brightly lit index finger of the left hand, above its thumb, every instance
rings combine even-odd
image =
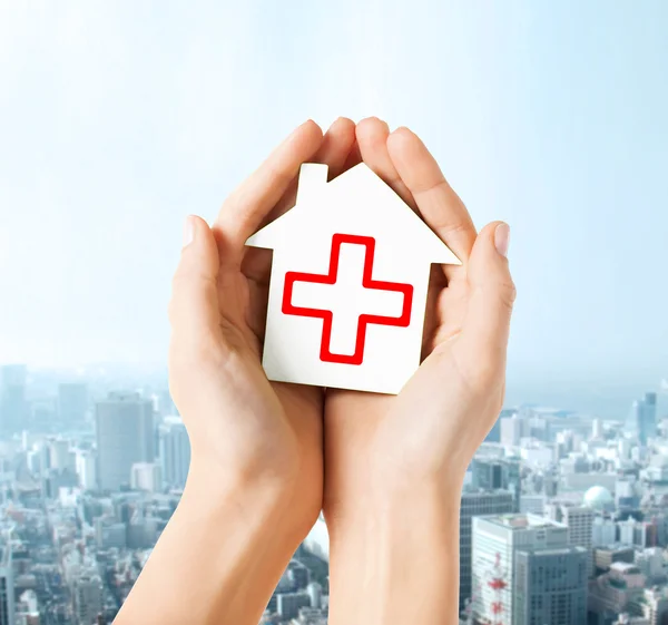
[[[225,256],[240,262],[246,240],[257,230],[295,178],[299,166],[321,147],[323,134],[315,121],[296,128],[225,201],[214,224]]]

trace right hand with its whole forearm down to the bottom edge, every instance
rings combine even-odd
[[[463,476],[503,402],[515,293],[508,226],[497,222],[477,234],[409,129],[390,134],[370,118],[357,125],[356,140],[363,160],[462,265],[432,266],[424,360],[397,395],[326,392],[331,622],[448,623],[456,618]],[[364,613],[347,612],[360,605]]]

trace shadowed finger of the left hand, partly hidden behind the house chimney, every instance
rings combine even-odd
[[[311,159],[312,163],[323,163],[328,166],[328,178],[335,178],[345,170],[345,163],[355,143],[355,123],[345,117],[340,117],[330,126],[323,137],[320,149]],[[269,212],[265,219],[259,224],[259,227],[273,222],[283,215],[288,208],[295,204],[297,195],[297,176],[291,182],[287,191],[278,201],[276,206]]]

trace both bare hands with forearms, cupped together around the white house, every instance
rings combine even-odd
[[[360,159],[463,263],[433,267],[425,360],[396,397],[268,382],[261,354],[271,253],[244,242],[294,204],[302,163],[326,163],[332,178]],[[212,227],[188,218],[169,307],[169,377],[193,460],[116,623],[256,625],[321,508],[332,540],[331,623],[456,617],[459,491],[501,408],[514,299],[498,226],[477,235],[420,139],[375,118],[356,127],[341,118],[324,137],[303,124]]]

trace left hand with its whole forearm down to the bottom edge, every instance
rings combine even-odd
[[[307,121],[233,193],[213,228],[188,218],[169,310],[169,383],[190,470],[119,625],[256,624],[320,512],[323,391],[267,381],[259,354],[271,258],[244,243],[292,205],[302,162],[336,173],[353,143],[350,120],[324,138]]]

